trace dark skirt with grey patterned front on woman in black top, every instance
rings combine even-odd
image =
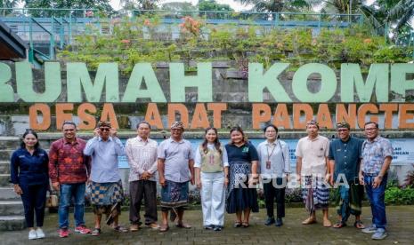
[[[256,187],[248,188],[250,162],[230,162],[229,186],[227,188],[226,210],[229,214],[244,209],[258,212]]]

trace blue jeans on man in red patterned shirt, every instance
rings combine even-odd
[[[69,206],[74,198],[76,226],[85,225],[85,183],[61,184],[61,202],[59,204],[59,228],[69,228]]]

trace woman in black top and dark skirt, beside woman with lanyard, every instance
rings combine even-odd
[[[255,146],[248,143],[240,127],[232,128],[230,136],[231,142],[225,146],[230,164],[226,210],[236,213],[234,227],[248,227],[250,211],[259,211],[256,192],[259,158]]]

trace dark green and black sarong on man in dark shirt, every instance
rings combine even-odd
[[[352,214],[361,215],[361,201],[363,196],[363,186],[350,183],[349,186],[339,186],[335,193],[337,214],[346,222]]]

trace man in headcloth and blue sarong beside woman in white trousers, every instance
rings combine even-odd
[[[173,123],[171,137],[158,146],[158,176],[159,184],[162,186],[163,223],[159,229],[161,232],[168,230],[168,210],[170,209],[171,213],[177,217],[175,226],[191,228],[191,225],[183,223],[183,215],[188,203],[189,181],[191,185],[194,185],[194,154],[191,143],[183,139],[183,132],[183,123]]]

